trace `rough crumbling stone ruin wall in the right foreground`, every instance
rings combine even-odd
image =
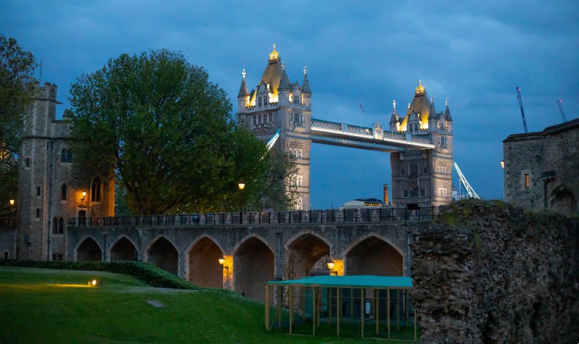
[[[578,343],[577,218],[462,201],[411,250],[422,343]]]

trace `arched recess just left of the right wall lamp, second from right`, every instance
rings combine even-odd
[[[329,274],[330,245],[317,236],[307,233],[291,241],[287,248],[288,279]]]

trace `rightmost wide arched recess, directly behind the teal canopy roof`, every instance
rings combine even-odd
[[[404,257],[386,241],[369,236],[347,253],[346,274],[404,276]]]

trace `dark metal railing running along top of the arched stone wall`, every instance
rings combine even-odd
[[[70,218],[72,227],[141,226],[222,226],[268,223],[373,223],[387,221],[425,221],[438,215],[438,207],[420,209],[331,209],[308,211],[251,211],[247,213],[193,213],[180,215]]]

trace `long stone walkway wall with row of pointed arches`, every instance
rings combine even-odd
[[[421,218],[433,211],[427,210]],[[138,259],[202,287],[261,301],[266,281],[328,274],[330,258],[340,275],[408,276],[411,233],[429,220],[418,221],[416,213],[396,213],[394,221],[377,211],[331,213],[286,212],[292,223],[284,213],[274,213],[273,221],[269,213],[244,213],[242,224],[239,213],[87,219],[86,226],[74,219],[66,231],[67,260]]]

